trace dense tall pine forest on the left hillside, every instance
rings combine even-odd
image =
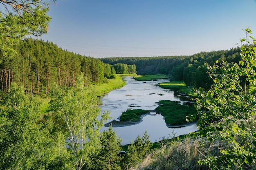
[[[27,38],[14,46],[15,54],[1,55],[2,94],[12,82],[23,86],[27,94],[49,95],[54,84],[74,86],[76,75],[83,73],[85,82],[101,83],[115,78],[115,68],[90,56],[59,48],[52,42]]]

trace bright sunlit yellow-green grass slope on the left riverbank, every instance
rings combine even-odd
[[[126,82],[121,76],[117,76],[115,79],[108,79],[108,83],[102,83],[97,85],[92,85],[97,90],[97,95],[102,96],[112,90],[118,89],[126,85]]]

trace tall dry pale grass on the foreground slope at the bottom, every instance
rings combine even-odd
[[[198,160],[206,156],[220,154],[221,141],[208,141],[200,137],[164,141],[161,148],[148,155],[136,170],[208,170],[200,166]]]

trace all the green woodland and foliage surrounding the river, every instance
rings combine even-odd
[[[0,170],[255,169],[256,40],[249,28],[230,50],[99,60],[27,38],[47,33],[49,1],[0,3]],[[100,132],[110,117],[94,85],[135,72],[192,86],[197,113],[186,118],[197,120],[198,131],[152,144],[145,130],[128,146],[111,126]]]

